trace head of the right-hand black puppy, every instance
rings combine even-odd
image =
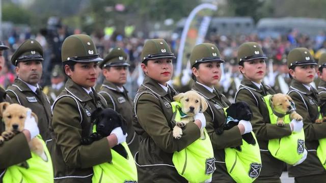
[[[226,109],[227,116],[237,120],[251,120],[253,112],[246,102],[236,102]]]

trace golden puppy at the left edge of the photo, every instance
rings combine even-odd
[[[9,140],[15,134],[24,129],[24,123],[28,110],[31,109],[19,104],[9,104],[8,102],[0,103],[0,116],[3,118],[5,123],[5,131],[1,134],[2,139]],[[37,115],[34,112],[32,112],[31,115],[35,117],[35,121],[38,121]],[[0,144],[2,142],[3,141],[0,138]],[[42,142],[38,138],[31,139],[29,146],[31,151],[40,156],[43,160],[47,160]]]

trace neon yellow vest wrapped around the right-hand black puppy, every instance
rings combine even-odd
[[[224,108],[224,113],[226,113]],[[227,147],[225,151],[225,165],[228,173],[236,182],[253,182],[261,170],[259,145],[253,132],[256,144],[249,144],[242,139],[241,151]]]

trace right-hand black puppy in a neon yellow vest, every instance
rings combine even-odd
[[[227,120],[225,121],[224,125],[215,131],[218,134],[222,134],[224,130],[229,130],[234,126],[237,126],[240,120],[250,121],[253,117],[253,112],[246,102],[236,102],[231,104],[229,108],[226,109],[226,113]],[[249,144],[256,144],[256,141],[251,133],[243,134],[242,139]],[[241,150],[240,147],[236,148]]]

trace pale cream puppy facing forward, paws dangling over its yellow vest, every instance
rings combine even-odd
[[[204,112],[208,104],[204,97],[200,96],[195,91],[188,91],[186,93],[180,93],[173,97],[174,101],[180,102],[181,111],[186,116],[181,118],[181,121],[176,121],[176,126],[173,128],[173,137],[180,139],[182,136],[182,129],[190,121],[194,122],[194,115],[198,112]],[[201,138],[204,138],[203,130],[200,131]]]

